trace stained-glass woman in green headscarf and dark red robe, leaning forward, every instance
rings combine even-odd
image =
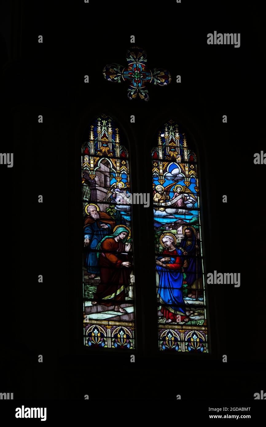
[[[94,294],[93,305],[101,304],[106,307],[114,305],[115,311],[126,313],[120,304],[125,301],[132,271],[130,240],[129,228],[118,225],[114,228],[113,234],[105,236],[97,245],[100,283]]]

